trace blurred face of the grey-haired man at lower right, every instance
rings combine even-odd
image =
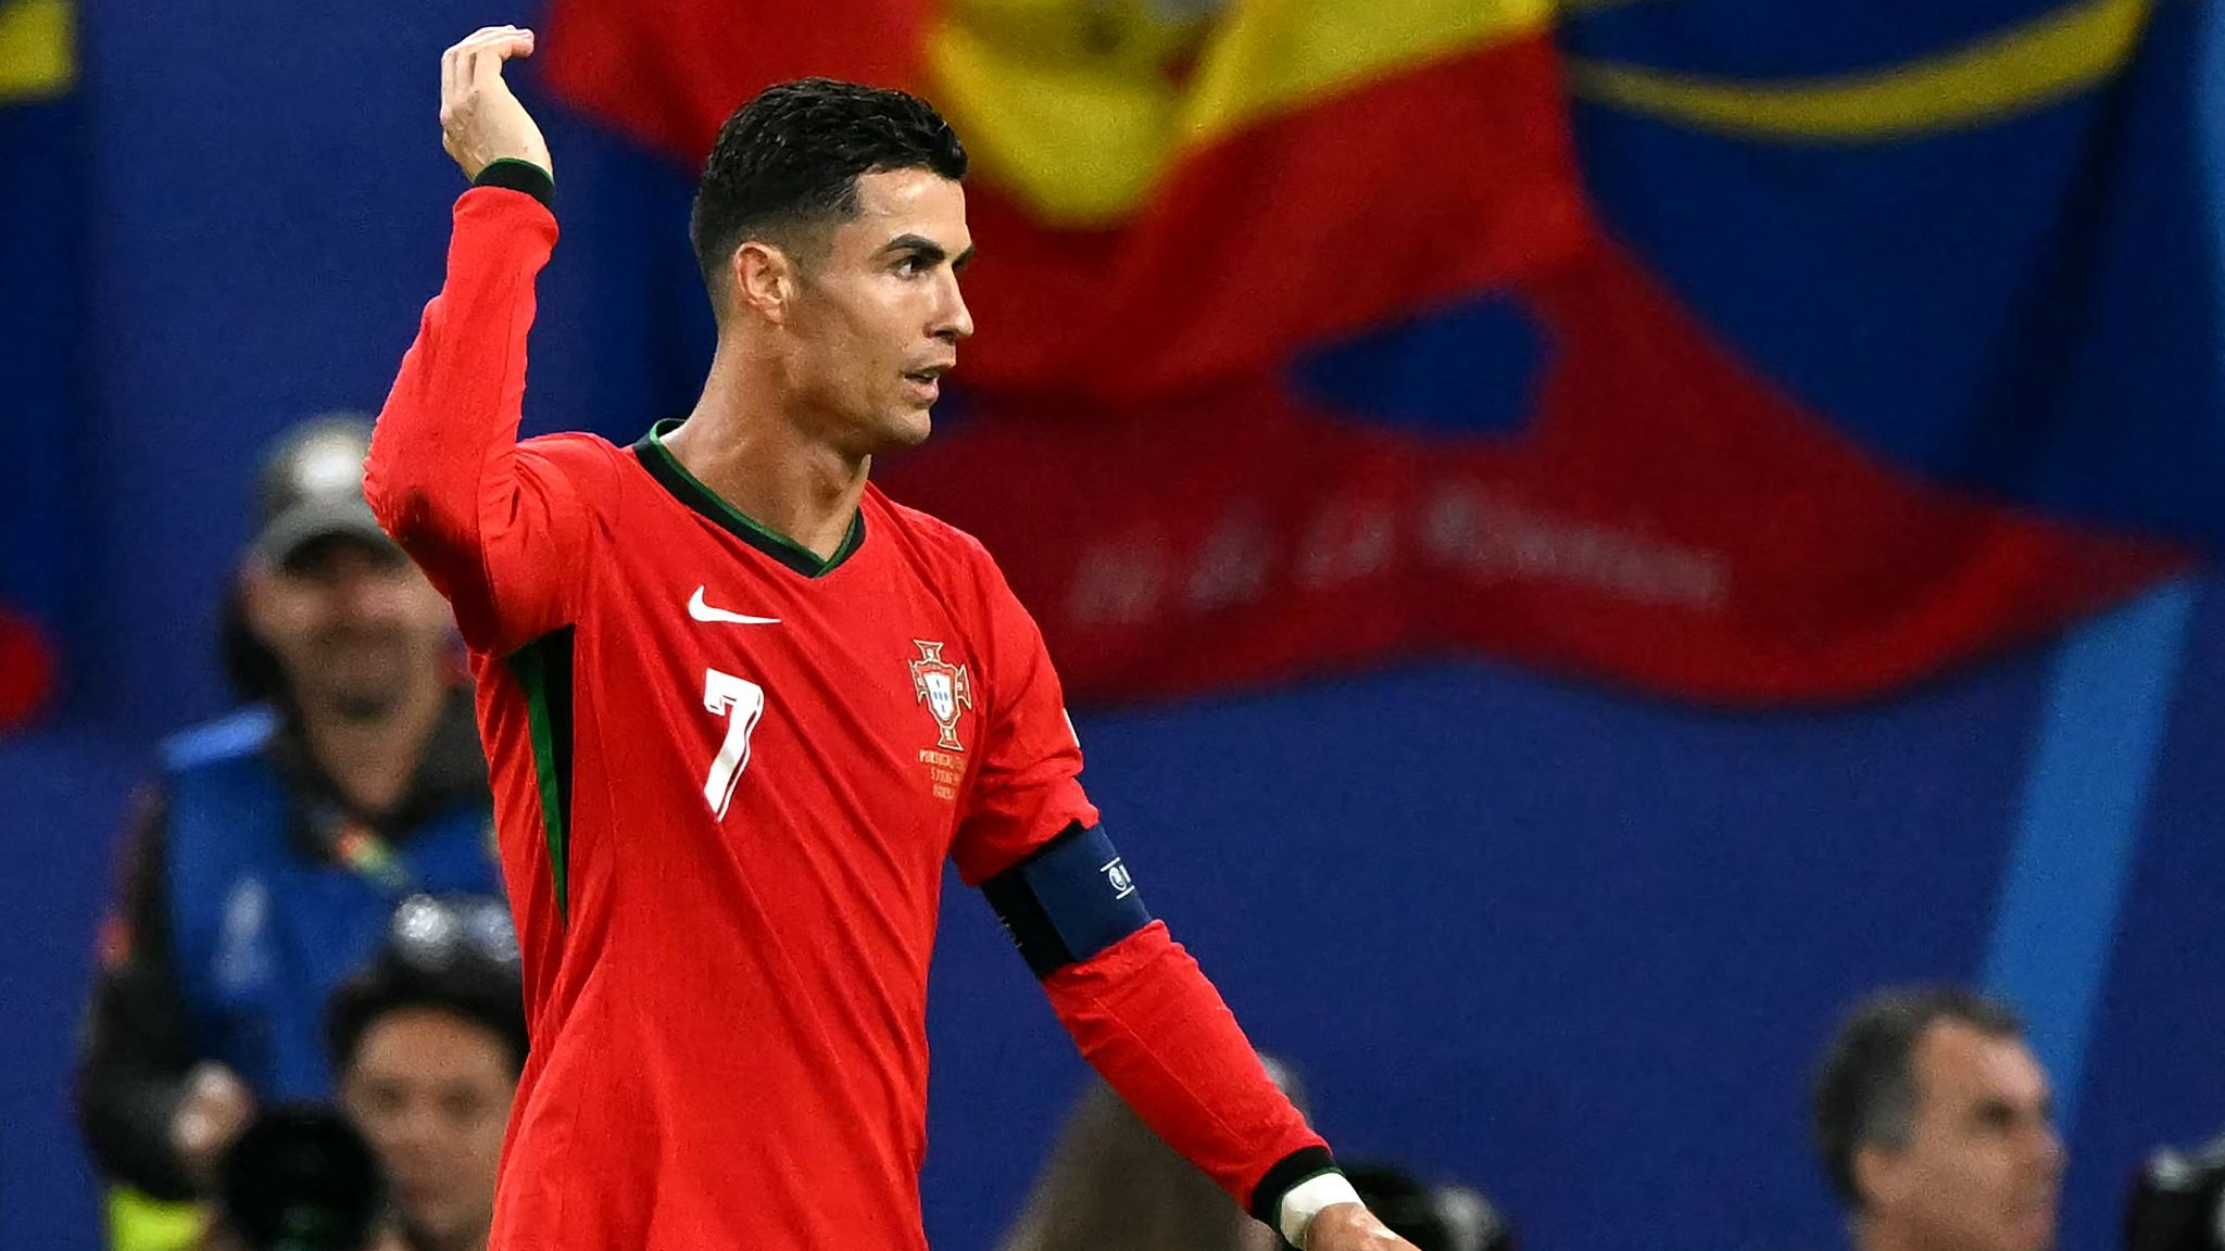
[[[1896,1247],[2045,1251],[2056,1238],[2063,1140],[2047,1073],[2016,1037],[1931,1026],[1911,1055],[1909,1144],[1858,1160],[1869,1215]]]

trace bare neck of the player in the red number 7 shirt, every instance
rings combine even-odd
[[[665,450],[743,516],[828,561],[850,534],[872,456],[812,436],[781,394],[770,361],[721,341],[703,396]]]

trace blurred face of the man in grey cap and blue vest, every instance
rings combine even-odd
[[[240,574],[247,621],[303,708],[378,719],[438,672],[449,634],[441,592],[389,545],[332,536]]]

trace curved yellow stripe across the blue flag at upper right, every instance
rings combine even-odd
[[[1891,140],[2000,120],[2114,78],[2154,0],[2080,0],[1949,53],[1885,71],[1784,82],[1571,62],[1584,98],[1698,129],[1773,140]]]

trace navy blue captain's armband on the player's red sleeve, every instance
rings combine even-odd
[[[1104,826],[1066,826],[1035,855],[983,881],[981,895],[1037,977],[1150,924],[1150,908]]]

